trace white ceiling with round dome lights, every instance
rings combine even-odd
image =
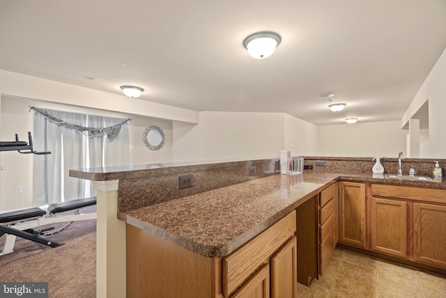
[[[282,36],[268,59],[243,47],[256,31]],[[445,47],[445,0],[0,0],[3,70],[318,125],[400,120]]]

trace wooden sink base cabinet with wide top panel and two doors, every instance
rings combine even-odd
[[[371,184],[370,195],[370,250],[445,274],[446,190]]]

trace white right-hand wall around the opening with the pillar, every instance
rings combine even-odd
[[[401,119],[400,126],[405,126],[411,117],[429,100],[429,151],[423,157],[445,158],[446,157],[446,50],[433,66],[431,73],[426,77],[422,87],[418,91],[408,110]],[[425,137],[425,136],[424,136]]]

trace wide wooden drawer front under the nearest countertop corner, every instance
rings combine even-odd
[[[294,237],[296,228],[295,211],[282,218],[244,246],[222,260],[223,295],[228,297],[242,285],[270,256],[288,239]]]

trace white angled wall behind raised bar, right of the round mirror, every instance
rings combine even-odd
[[[174,122],[175,161],[314,155],[317,126],[284,113],[200,112],[199,124]]]

